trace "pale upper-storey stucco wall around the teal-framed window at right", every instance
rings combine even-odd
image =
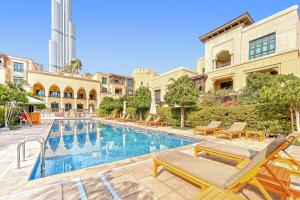
[[[298,6],[293,6],[250,26],[237,26],[205,42],[205,71],[213,71],[213,60],[222,50],[233,54],[232,65],[249,61],[249,42],[265,35],[276,33],[276,52],[299,49]],[[259,59],[259,58],[258,58]]]

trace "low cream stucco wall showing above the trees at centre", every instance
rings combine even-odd
[[[150,90],[152,93],[154,93],[155,90],[160,90],[161,100],[164,101],[164,95],[166,94],[167,86],[171,83],[170,79],[173,78],[176,80],[177,78],[185,75],[192,77],[196,76],[197,73],[190,71],[185,67],[171,70],[152,79],[150,82]]]

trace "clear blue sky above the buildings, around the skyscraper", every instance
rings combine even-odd
[[[198,37],[248,11],[255,21],[299,0],[73,0],[77,57],[83,72],[131,75],[196,70],[204,54]],[[48,70],[50,0],[1,0],[0,52],[32,58]]]

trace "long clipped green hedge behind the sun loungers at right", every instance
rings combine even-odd
[[[158,108],[158,113],[165,116],[171,126],[180,124],[179,111],[174,108]],[[222,121],[222,126],[228,128],[235,121],[247,122],[250,130],[263,130],[267,134],[291,132],[290,113],[288,105],[252,104],[238,106],[206,106],[192,110],[186,114],[186,126],[207,125],[212,120]]]

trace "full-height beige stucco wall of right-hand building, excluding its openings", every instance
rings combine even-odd
[[[249,42],[276,33],[275,53],[249,60]],[[298,6],[290,7],[247,27],[240,25],[205,42],[206,91],[214,90],[214,82],[232,78],[233,89],[246,85],[249,73],[274,68],[282,74],[300,76],[300,22]],[[213,69],[216,54],[228,50],[233,54],[230,66]]]

